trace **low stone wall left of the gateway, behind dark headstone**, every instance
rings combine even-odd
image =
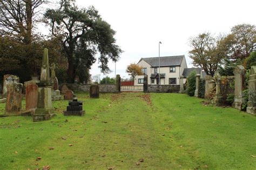
[[[59,89],[61,89],[61,87],[63,85],[66,85],[69,87],[70,90],[72,91],[83,91],[83,92],[90,92],[90,86],[91,84],[67,84],[67,83],[63,83],[63,84],[59,84]],[[103,93],[113,93],[113,92],[118,92],[116,90],[116,84],[99,84],[99,92],[103,92]]]

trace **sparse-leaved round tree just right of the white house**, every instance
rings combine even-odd
[[[220,45],[221,37],[214,38],[211,33],[201,33],[190,38],[189,56],[194,66],[200,66],[207,75],[213,76],[224,58],[223,47]]]

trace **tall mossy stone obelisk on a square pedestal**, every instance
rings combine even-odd
[[[41,76],[38,85],[37,109],[33,114],[33,121],[49,120],[53,113],[51,103],[51,79],[49,70],[48,49],[44,49]]]

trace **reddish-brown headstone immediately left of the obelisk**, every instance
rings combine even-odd
[[[24,83],[26,87],[26,111],[35,110],[37,108],[37,95],[38,95],[38,86],[36,81],[26,81]]]

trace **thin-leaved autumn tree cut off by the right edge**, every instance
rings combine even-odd
[[[244,61],[252,51],[256,50],[256,26],[235,25],[221,43],[226,47],[228,59],[235,62]]]

